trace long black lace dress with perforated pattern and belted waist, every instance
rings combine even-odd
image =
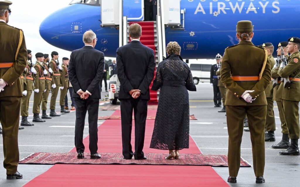
[[[193,76],[181,56],[171,54],[157,68],[151,90],[160,90],[150,148],[189,148],[190,108],[187,90],[196,91]]]

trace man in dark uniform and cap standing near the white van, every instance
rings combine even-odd
[[[218,65],[220,65],[221,58],[216,56],[217,64],[211,66],[210,69],[210,84],[214,88],[214,107],[221,107],[221,92],[218,87],[218,76],[216,72],[218,71]]]

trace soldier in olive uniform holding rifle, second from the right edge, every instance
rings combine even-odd
[[[277,57],[281,56],[281,47],[283,48],[283,53],[284,56],[287,58],[289,56],[289,53],[287,52],[287,46],[288,42],[287,41],[282,41],[277,45]],[[279,63],[280,64],[280,63]],[[273,92],[273,100],[276,101],[277,103],[277,107],[278,107],[278,111],[279,111],[279,119],[281,122],[281,133],[282,133],[282,139],[279,143],[272,145],[272,148],[274,149],[287,149],[289,148],[290,144],[289,144],[289,130],[287,128],[285,119],[284,119],[284,115],[283,115],[283,109],[282,109],[282,105],[281,105],[281,98],[282,98],[282,92],[283,92],[283,86],[281,86],[281,89],[278,89],[279,86],[283,83],[281,83],[281,77],[278,75],[278,69],[279,69],[279,65],[276,67],[274,66],[274,68],[272,69],[271,73],[272,73],[272,78],[277,81],[277,85],[274,88],[274,92]]]

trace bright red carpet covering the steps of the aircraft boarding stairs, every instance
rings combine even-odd
[[[142,36],[140,38],[140,42],[144,45],[146,45],[147,47],[150,47],[151,49],[154,50],[154,56],[155,56],[155,32],[154,32],[154,22],[153,21],[144,21],[144,22],[129,22],[129,25],[132,25],[134,23],[138,23],[140,24],[140,26],[142,26]],[[154,78],[155,79],[155,75],[156,75],[156,68],[155,68],[155,72],[154,72]],[[149,103],[157,103],[157,92],[156,91],[152,91],[151,87],[153,85],[153,80],[152,83],[150,85],[150,101]]]

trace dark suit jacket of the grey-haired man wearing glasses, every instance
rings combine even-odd
[[[104,53],[91,46],[72,51],[69,63],[69,80],[73,86],[73,98],[80,98],[79,89],[88,90],[89,98],[101,98],[100,80],[104,70]]]

